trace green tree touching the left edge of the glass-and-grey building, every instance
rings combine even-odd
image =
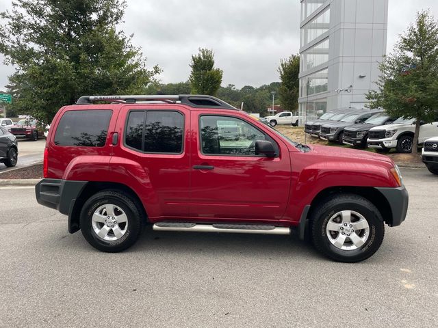
[[[300,56],[292,55],[287,59],[281,59],[278,71],[281,79],[280,105],[285,111],[296,111],[298,109]]]

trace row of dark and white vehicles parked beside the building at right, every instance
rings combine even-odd
[[[421,124],[418,145],[424,146],[422,160],[433,174],[438,174],[437,122]],[[393,118],[381,110],[337,109],[318,120],[306,122],[305,133],[327,141],[357,148],[374,148],[377,152],[409,153],[413,147],[414,120]]]

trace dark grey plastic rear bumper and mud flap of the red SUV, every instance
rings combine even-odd
[[[72,222],[72,213],[75,202],[86,186],[86,181],[67,181],[62,179],[42,179],[35,186],[36,201],[38,204],[59,210],[68,215],[68,232],[79,230]]]

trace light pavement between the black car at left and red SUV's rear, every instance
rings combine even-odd
[[[0,173],[10,171],[17,167],[25,167],[42,162],[45,145],[46,141],[44,139],[39,139],[38,141],[18,139],[18,161],[16,166],[9,168],[3,163],[0,163]]]

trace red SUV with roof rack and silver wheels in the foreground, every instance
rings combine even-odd
[[[151,223],[163,231],[296,230],[342,262],[372,256],[385,223],[399,226],[408,207],[387,156],[304,146],[194,95],[83,96],[62,107],[36,198],[101,251],[127,249]]]

